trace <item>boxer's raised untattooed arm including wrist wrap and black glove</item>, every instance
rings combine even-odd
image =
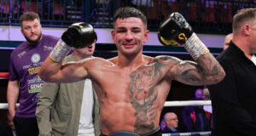
[[[67,28],[55,48],[45,59],[38,72],[39,77],[45,82],[77,82],[86,75],[83,65],[69,63],[62,65],[62,59],[69,53],[71,48],[83,48],[96,42],[96,32],[90,24],[74,23]],[[83,74],[81,74],[83,73]]]

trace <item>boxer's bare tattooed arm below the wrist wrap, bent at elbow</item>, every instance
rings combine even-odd
[[[170,76],[189,85],[215,84],[224,79],[224,69],[212,54],[202,54],[195,62],[177,60],[169,71]]]

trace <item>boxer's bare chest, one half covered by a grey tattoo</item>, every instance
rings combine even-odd
[[[104,97],[113,96],[113,99],[154,101],[159,94],[168,92],[171,86],[171,82],[165,79],[164,71],[155,70],[154,66],[141,67],[136,71],[120,71],[114,68],[103,71],[94,77],[96,90],[102,92]]]

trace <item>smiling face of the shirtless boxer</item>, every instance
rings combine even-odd
[[[143,21],[137,17],[117,19],[111,31],[119,54],[136,55],[143,51],[143,43],[148,41],[148,31]]]

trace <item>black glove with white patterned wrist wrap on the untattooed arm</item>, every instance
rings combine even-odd
[[[97,35],[90,24],[83,22],[74,23],[63,32],[61,39],[55,45],[55,48],[49,54],[50,59],[60,62],[73,48],[84,48],[85,46],[96,42]]]

